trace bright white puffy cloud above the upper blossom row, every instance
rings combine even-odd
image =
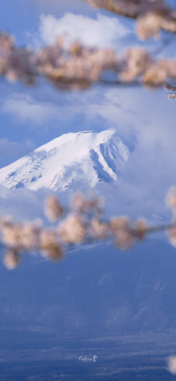
[[[45,44],[53,44],[57,36],[63,36],[66,46],[71,41],[78,40],[87,46],[115,47],[120,39],[129,33],[131,33],[130,29],[116,17],[110,18],[100,13],[97,13],[96,20],[70,12],[60,19],[53,15],[41,15],[39,44],[40,40]],[[37,45],[36,34],[32,39],[32,34],[27,32],[27,37],[35,46]]]

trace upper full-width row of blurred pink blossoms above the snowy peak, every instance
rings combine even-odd
[[[0,34],[0,75],[9,81],[33,85],[42,75],[62,90],[87,89],[94,83],[107,83],[103,75],[110,70],[120,84],[139,81],[157,87],[167,78],[176,78],[176,60],[156,60],[141,47],[128,48],[119,58],[113,49],[89,48],[77,42],[66,50],[60,38],[55,45],[33,51],[16,47],[11,36]]]

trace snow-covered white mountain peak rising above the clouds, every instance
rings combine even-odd
[[[118,179],[133,146],[115,129],[63,134],[0,169],[8,188],[53,190],[95,186]]]

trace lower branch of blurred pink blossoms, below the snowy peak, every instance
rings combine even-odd
[[[173,190],[174,189],[174,190]],[[173,188],[167,202],[176,212],[176,191]],[[49,196],[45,201],[45,214],[52,222],[44,228],[41,221],[34,223],[16,223],[9,217],[0,220],[0,241],[5,247],[4,264],[14,269],[24,252],[41,252],[51,260],[61,260],[67,247],[81,245],[98,240],[112,240],[116,247],[127,250],[151,232],[167,230],[171,243],[176,247],[176,220],[167,226],[148,226],[144,219],[136,222],[126,216],[112,217],[104,221],[103,200],[85,198],[81,193],[75,195],[71,207],[66,213],[58,199]]]

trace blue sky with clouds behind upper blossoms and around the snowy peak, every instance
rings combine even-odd
[[[81,0],[7,0],[1,4],[0,25],[18,45],[40,47],[57,33],[64,33],[66,44],[80,38],[87,45],[110,45],[117,54],[142,44],[132,20]],[[154,50],[160,44],[150,40],[144,45]],[[162,54],[171,56],[174,44]],[[0,168],[61,134],[113,127],[136,142],[119,183],[121,209],[128,212],[127,205],[133,205],[136,213],[164,215],[165,194],[176,182],[176,104],[164,90],[97,85],[62,92],[44,80],[29,88],[2,78],[0,89]]]

